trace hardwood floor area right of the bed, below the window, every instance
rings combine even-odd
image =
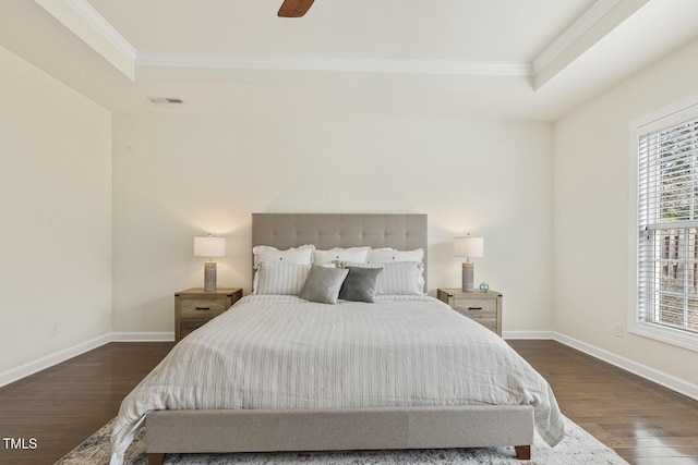
[[[568,418],[630,464],[698,464],[698,401],[554,341],[507,341]]]

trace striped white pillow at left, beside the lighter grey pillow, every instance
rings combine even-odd
[[[298,295],[303,289],[310,265],[264,261],[254,273],[252,293],[257,295]]]

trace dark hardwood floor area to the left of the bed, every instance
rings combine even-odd
[[[48,465],[113,418],[123,397],[174,343],[110,343],[0,389],[0,463]],[[16,445],[16,444],[15,444]]]

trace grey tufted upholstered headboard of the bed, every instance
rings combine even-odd
[[[426,281],[426,215],[252,213],[252,246],[423,248]]]

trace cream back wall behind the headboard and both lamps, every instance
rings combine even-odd
[[[173,331],[203,285],[192,237],[228,238],[220,286],[250,292],[252,212],[429,215],[429,287],[458,286],[453,237],[485,237],[476,280],[504,330],[552,329],[552,125],[417,119],[113,117],[113,329]]]

